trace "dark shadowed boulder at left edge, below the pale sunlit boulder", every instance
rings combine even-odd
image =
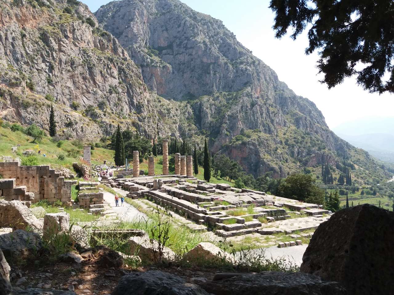
[[[41,238],[35,232],[15,230],[0,235],[0,248],[6,258],[22,258],[35,255],[43,248]]]

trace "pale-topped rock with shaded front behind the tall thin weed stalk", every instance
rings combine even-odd
[[[148,236],[131,237],[128,240],[128,255],[136,255],[141,258],[144,263],[168,263],[175,260],[175,253],[164,246],[162,256],[159,255],[159,243],[156,240],[151,241]]]

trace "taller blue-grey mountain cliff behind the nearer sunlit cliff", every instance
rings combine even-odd
[[[194,124],[250,173],[285,177],[349,157],[322,113],[279,81],[220,20],[178,0],[122,0],[95,12],[157,94],[187,101]]]

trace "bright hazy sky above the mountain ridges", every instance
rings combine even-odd
[[[316,53],[305,55],[306,32],[296,41],[290,37],[275,39],[274,15],[269,0],[181,0],[191,8],[223,21],[237,39],[269,65],[296,94],[309,98],[323,112],[329,127],[368,116],[393,117],[394,95],[370,94],[349,78],[334,89],[321,84]],[[108,0],[82,0],[96,11]]]

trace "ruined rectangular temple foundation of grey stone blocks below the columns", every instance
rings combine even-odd
[[[215,229],[215,234],[223,237],[316,229],[331,213],[316,204],[255,190],[238,190],[228,184],[185,179],[179,175],[109,178],[102,180],[102,183],[128,190],[127,197],[147,198],[168,206],[196,224]],[[310,216],[303,217],[305,215]],[[316,215],[319,217],[314,217]]]

